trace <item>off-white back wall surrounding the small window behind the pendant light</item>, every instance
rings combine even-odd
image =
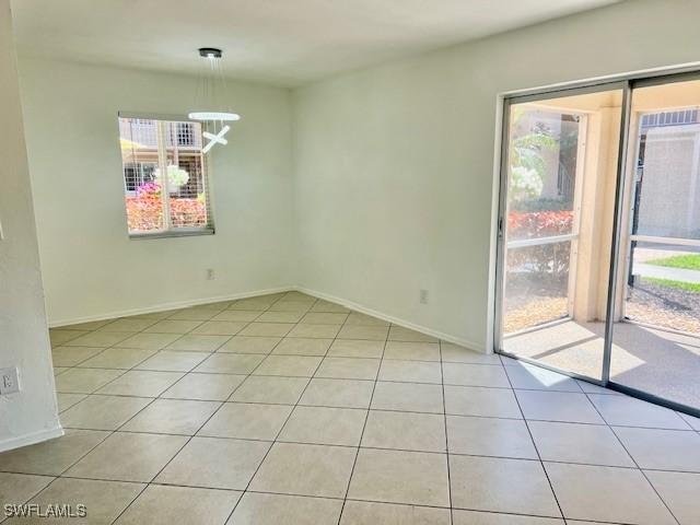
[[[20,72],[51,325],[293,284],[288,90],[229,82],[242,120],[212,150],[214,235],[129,240],[117,112],[185,115],[197,79],[30,58]]]

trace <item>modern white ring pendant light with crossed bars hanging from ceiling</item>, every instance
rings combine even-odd
[[[224,138],[231,130],[228,121],[240,120],[241,116],[232,113],[225,103],[226,82],[221,67],[221,49],[215,47],[202,47],[199,56],[202,58],[202,74],[197,88],[196,103],[201,110],[190,112],[191,120],[199,120],[207,125],[202,136],[209,140],[202,148],[207,153],[214,144],[225,145],[229,141]]]

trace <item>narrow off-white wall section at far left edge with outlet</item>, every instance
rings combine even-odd
[[[0,369],[21,392],[0,397],[0,452],[61,435],[32,208],[9,0],[0,0]]]

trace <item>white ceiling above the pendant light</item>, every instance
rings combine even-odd
[[[12,0],[24,56],[296,86],[617,0]]]

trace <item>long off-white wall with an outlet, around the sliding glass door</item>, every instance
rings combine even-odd
[[[628,1],[295,91],[300,284],[485,350],[498,94],[696,61],[698,20]]]

